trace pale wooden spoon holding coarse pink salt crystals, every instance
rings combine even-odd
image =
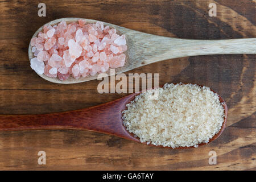
[[[77,22],[83,18],[61,18],[53,20],[45,25],[55,25],[61,21],[67,23]],[[85,19],[87,23],[95,23],[97,20]],[[216,54],[255,54],[256,38],[249,39],[226,39],[226,40],[189,40],[168,38],[164,36],[146,34],[143,32],[130,30],[115,24],[104,23],[117,30],[117,34],[125,34],[127,42],[126,63],[123,67],[115,69],[115,74],[129,71],[143,65],[155,63],[157,61],[172,59],[176,57],[197,56],[197,55],[216,55]],[[32,38],[42,31],[44,25],[35,32]],[[31,60],[34,53],[31,52],[31,44],[28,48],[28,57]],[[110,75],[110,72],[107,72]],[[42,78],[59,83],[74,84],[97,79],[95,76],[86,76],[85,78],[75,79],[72,76],[68,80],[61,81],[59,78],[50,78],[45,75],[39,75]]]

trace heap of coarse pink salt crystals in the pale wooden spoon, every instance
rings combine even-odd
[[[31,39],[34,58],[31,68],[38,74],[60,80],[96,75],[109,68],[123,67],[127,50],[125,35],[102,22],[85,24],[85,20],[44,26]]]

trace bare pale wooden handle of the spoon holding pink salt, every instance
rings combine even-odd
[[[143,34],[134,35],[133,51],[142,61],[134,60],[133,67],[177,57],[256,53],[256,38],[193,40]]]

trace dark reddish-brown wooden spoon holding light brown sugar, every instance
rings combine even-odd
[[[122,111],[127,109],[126,104],[134,100],[138,94],[133,93],[106,104],[62,113],[0,115],[0,131],[44,129],[89,130],[140,142],[139,138],[135,138],[133,134],[129,133],[122,123]],[[218,138],[225,128],[228,107],[220,96],[219,99],[223,103],[225,118],[221,130],[209,142]],[[206,143],[198,145],[202,146],[204,144]],[[178,147],[176,149],[182,148],[193,147]]]

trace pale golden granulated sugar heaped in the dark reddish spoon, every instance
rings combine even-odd
[[[156,146],[197,147],[208,143],[224,122],[224,107],[208,87],[192,84],[166,84],[135,97],[123,111],[126,129],[141,142]]]

